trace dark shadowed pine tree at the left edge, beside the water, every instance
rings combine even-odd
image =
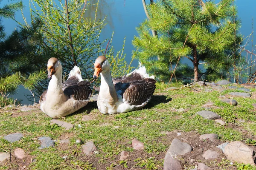
[[[22,8],[21,1],[4,5],[0,8],[0,15],[14,19],[15,11]],[[44,57],[36,53],[41,42],[41,35],[37,33],[40,27],[41,21],[36,19],[31,25],[6,36],[4,26],[0,26],[0,107],[12,102],[7,97],[14,94],[19,85],[32,90],[40,79],[46,77],[39,69],[45,62]]]

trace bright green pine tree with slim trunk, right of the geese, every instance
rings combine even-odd
[[[234,54],[241,35],[236,34],[240,25],[234,0],[218,4],[213,0],[160,0],[147,9],[150,20],[137,28],[133,54],[160,80],[169,79],[172,64],[184,57],[193,64],[194,81],[201,77],[200,62],[204,62],[206,73],[220,73],[238,61]],[[156,37],[151,30],[157,31]],[[183,77],[188,75],[191,73]]]

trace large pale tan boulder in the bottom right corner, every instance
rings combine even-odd
[[[230,161],[237,161],[241,164],[255,165],[254,150],[243,142],[230,142],[225,147],[224,154]]]

